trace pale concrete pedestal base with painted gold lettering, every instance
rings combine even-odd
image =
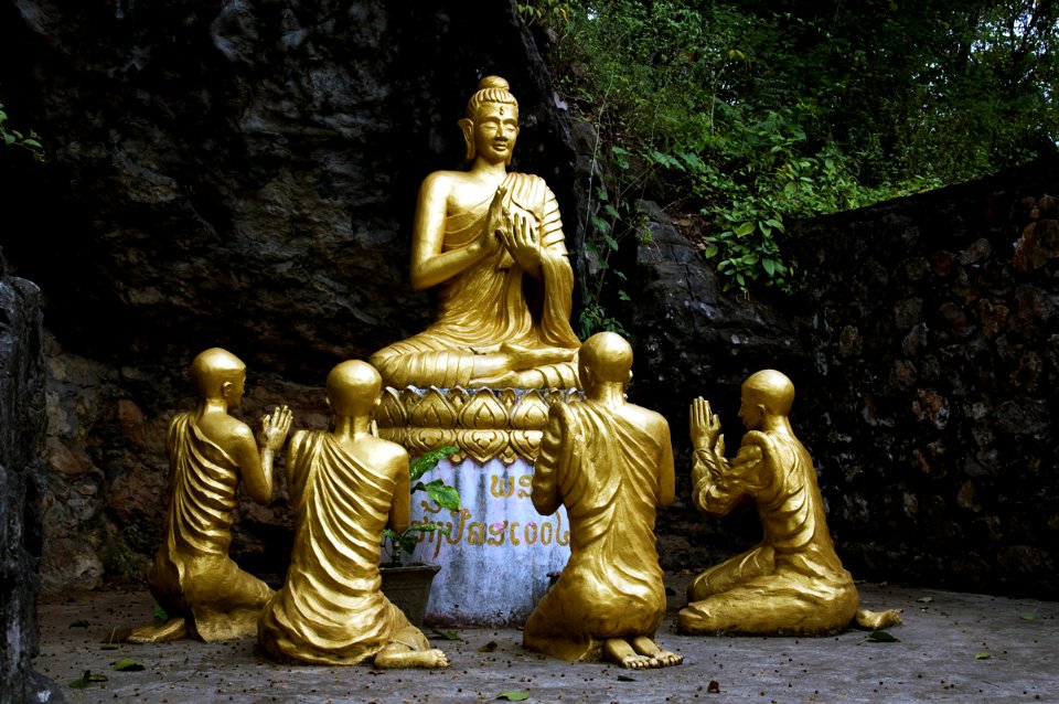
[[[548,573],[570,556],[566,509],[543,516],[530,499],[533,465],[518,459],[453,466],[440,462],[422,480],[441,478],[460,492],[463,509],[431,511],[413,494],[413,522],[436,521],[451,535],[428,533],[414,558],[441,566],[426,619],[451,626],[521,626],[548,588]]]

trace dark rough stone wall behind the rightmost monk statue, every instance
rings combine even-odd
[[[792,230],[799,431],[862,576],[1059,597],[1057,167]]]

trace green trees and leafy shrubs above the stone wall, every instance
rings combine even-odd
[[[550,25],[553,75],[609,156],[582,332],[612,324],[601,281],[619,231],[637,230],[632,198],[704,214],[703,254],[729,288],[789,290],[790,221],[965,181],[1059,138],[1057,3],[521,7]]]

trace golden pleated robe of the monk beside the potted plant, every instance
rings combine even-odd
[[[381,541],[395,482],[328,433],[299,431],[288,449],[295,548],[284,587],[261,612],[258,642],[277,660],[356,664],[392,641],[429,641],[381,591]]]

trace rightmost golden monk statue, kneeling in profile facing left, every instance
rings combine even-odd
[[[784,374],[763,370],[747,378],[739,418],[748,433],[730,462],[719,417],[703,398],[692,404],[693,502],[719,516],[752,500],[764,538],[688,585],[688,605],[677,616],[683,633],[812,636],[854,620],[863,628],[900,622],[894,610],[857,610],[853,577],[827,532],[813,461],[791,429],[793,402],[794,385]]]

